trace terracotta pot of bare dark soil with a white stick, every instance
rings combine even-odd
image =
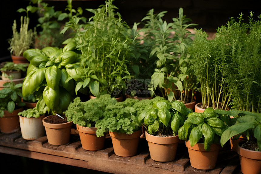
[[[48,143],[51,145],[63,145],[69,142],[73,122],[68,122],[65,116],[62,117],[50,115],[42,120]]]

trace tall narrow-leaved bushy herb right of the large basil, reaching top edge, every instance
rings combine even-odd
[[[112,2],[108,0],[97,9],[86,9],[94,14],[87,23],[85,18],[74,15],[61,31],[69,28],[75,31],[76,48],[82,53],[80,63],[71,65],[75,72],[71,77],[79,88],[89,87],[96,97],[102,94],[117,97],[120,95],[117,91],[124,88],[124,80],[130,77],[127,65],[131,39],[126,32],[129,26],[115,12],[117,7]]]

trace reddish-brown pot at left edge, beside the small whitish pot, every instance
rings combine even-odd
[[[3,117],[0,117],[0,130],[2,133],[13,133],[20,129],[18,113],[24,110],[23,107],[15,109],[12,113],[4,111]]]

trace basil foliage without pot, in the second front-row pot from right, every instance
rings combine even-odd
[[[222,133],[231,125],[228,115],[215,113],[212,107],[203,113],[189,113],[186,117],[184,125],[178,130],[179,139],[189,140],[191,147],[196,143],[204,143],[207,151],[212,143],[220,144]]]

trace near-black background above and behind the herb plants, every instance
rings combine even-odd
[[[12,37],[13,20],[16,19],[17,26],[20,24],[20,16],[26,15],[25,12],[16,12],[19,8],[26,8],[29,5],[29,0],[6,0],[5,3],[0,5],[1,12],[1,26],[0,26],[0,59],[10,57],[8,51],[9,43],[7,40]],[[67,1],[46,1],[50,6],[54,5],[55,10],[64,12]],[[243,13],[246,18],[250,11],[254,12],[254,16],[261,13],[261,8],[258,5],[259,1],[254,0],[115,0],[116,5],[122,15],[124,21],[132,26],[134,22],[141,22],[141,19],[146,16],[150,9],[154,12],[168,11],[163,17],[167,22],[172,22],[173,17],[178,17],[178,9],[182,7],[186,17],[191,18],[193,23],[197,23],[197,28],[202,28],[210,35],[216,29],[225,25],[230,17],[237,18],[239,13]],[[5,5],[3,5],[5,4]],[[99,5],[104,4],[103,0],[87,0],[87,1],[74,1],[73,8],[82,7],[83,16],[87,19],[92,16],[87,12],[86,8],[96,9]],[[34,28],[38,24],[38,16],[36,13],[30,14],[29,28]],[[247,19],[245,19],[247,20]],[[247,22],[247,21],[246,21]],[[38,29],[39,30],[39,29]]]

